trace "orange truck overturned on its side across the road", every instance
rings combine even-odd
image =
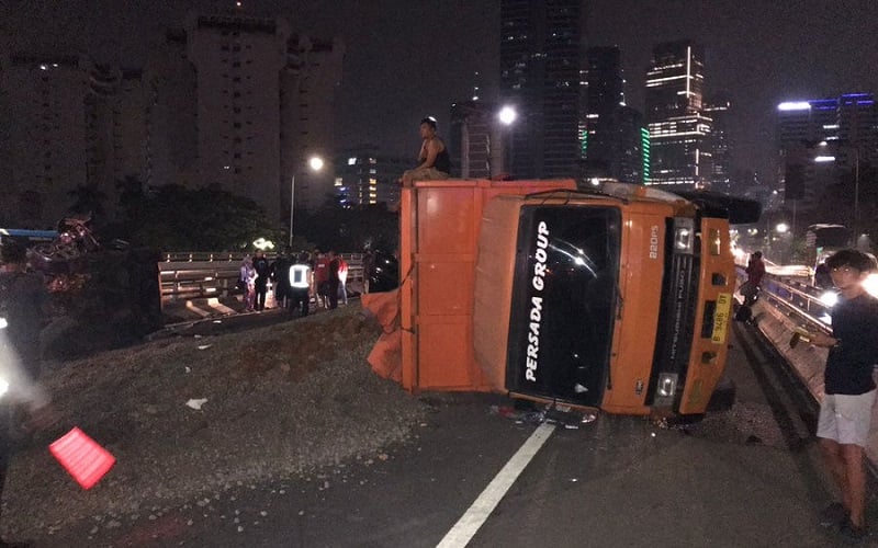
[[[623,183],[416,182],[401,198],[398,330],[370,361],[413,392],[703,413],[727,358],[730,221],[758,215]]]

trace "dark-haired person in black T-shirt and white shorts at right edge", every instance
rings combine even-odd
[[[821,525],[838,526],[845,537],[862,539],[868,534],[864,448],[876,396],[873,369],[878,362],[878,299],[863,285],[874,269],[865,253],[838,251],[826,260],[826,266],[841,294],[831,311],[832,335],[812,333],[810,339],[830,349],[817,435],[842,501],[823,511]]]

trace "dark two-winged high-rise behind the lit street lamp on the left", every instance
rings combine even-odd
[[[344,45],[297,35],[282,18],[192,15],[199,179],[248,196],[270,218],[319,207],[333,192],[334,96]],[[320,157],[326,169],[307,169]]]

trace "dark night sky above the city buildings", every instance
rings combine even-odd
[[[0,46],[33,53],[82,50],[138,67],[151,44],[189,9],[228,1],[5,0]],[[652,46],[693,38],[706,47],[707,92],[727,91],[738,111],[735,164],[767,174],[774,109],[784,100],[878,92],[875,0],[587,0],[587,45],[622,50],[628,104],[643,109]],[[447,125],[452,102],[466,100],[481,72],[482,96],[496,96],[499,2],[496,0],[246,1],[257,14],[293,28],[340,36],[347,45],[339,145],[372,142],[417,153],[418,121]],[[442,127],[440,127],[440,134]]]

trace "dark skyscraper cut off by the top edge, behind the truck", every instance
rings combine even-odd
[[[516,179],[576,176],[579,162],[581,0],[502,0],[500,103],[518,118]]]

